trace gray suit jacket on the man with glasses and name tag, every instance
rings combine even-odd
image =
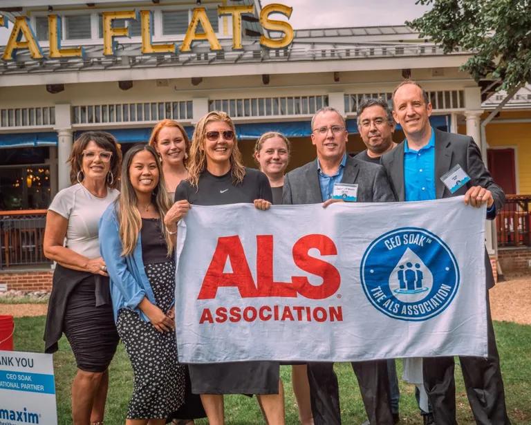
[[[342,183],[357,183],[357,202],[392,202],[395,200],[389,179],[381,165],[347,155]],[[315,160],[290,171],[284,178],[282,203],[288,205],[323,202]]]

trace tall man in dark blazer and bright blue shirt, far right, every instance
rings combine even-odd
[[[501,187],[485,169],[481,153],[468,136],[432,129],[431,104],[416,82],[406,80],[393,93],[393,117],[402,126],[406,140],[382,156],[395,196],[400,201],[465,196],[465,204],[487,204],[487,219],[496,217],[505,202]],[[441,176],[459,165],[470,180],[451,193]],[[486,288],[494,285],[485,252]],[[505,408],[503,380],[487,296],[488,357],[460,357],[472,413],[478,424],[510,424]],[[454,357],[423,359],[424,385],[437,425],[455,425],[456,396]]]

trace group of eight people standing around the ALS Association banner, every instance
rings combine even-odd
[[[392,111],[382,100],[360,105],[357,124],[367,149],[356,158],[346,151],[342,115],[331,107],[317,111],[311,122],[317,159],[286,175],[291,147],[284,135],[263,134],[254,149],[260,171],[247,168],[234,123],[220,111],[198,120],[192,140],[178,122],[163,120],[147,144],[131,147],[124,158],[111,134],[82,133],[69,159],[73,185],[51,202],[44,236],[44,253],[57,263],[46,352],[57,350],[66,335],[77,363],[74,424],[103,424],[108,368],[119,340],[134,373],[128,425],[193,424],[200,417],[224,424],[225,394],[256,395],[265,422],[284,423],[279,361],[178,363],[174,245],[178,222],[193,205],[249,202],[267,210],[272,204],[322,203],[326,208],[340,202],[332,195],[341,182],[358,185],[357,202],[465,195],[466,204],[486,203],[487,218],[496,216],[503,191],[474,140],[433,129],[431,104],[416,82],[402,82],[392,101]],[[406,136],[400,144],[392,139],[395,122]],[[471,180],[450,193],[440,176],[456,164]],[[486,270],[488,305],[494,279],[490,265]],[[478,424],[510,424],[490,314],[485,320],[488,357],[460,358],[467,395]],[[453,357],[421,363],[417,397],[423,422],[456,424]],[[333,363],[290,364],[301,424],[340,424]],[[353,361],[352,367],[368,423],[397,423],[395,361]]]

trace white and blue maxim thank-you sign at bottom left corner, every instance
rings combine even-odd
[[[57,425],[52,355],[0,351],[0,425]]]

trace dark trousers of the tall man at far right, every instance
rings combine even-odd
[[[459,357],[468,401],[479,425],[510,425],[505,408],[505,392],[490,317],[487,291],[488,357]],[[456,383],[454,357],[427,357],[422,360],[424,386],[437,425],[456,425]]]

